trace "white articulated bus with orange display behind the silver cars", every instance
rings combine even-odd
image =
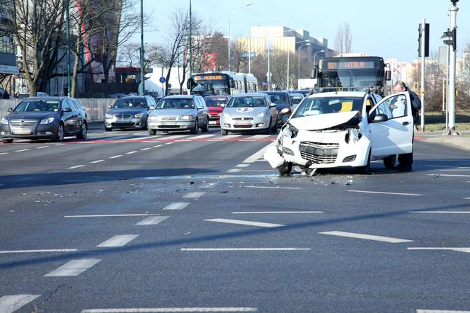
[[[201,96],[234,95],[258,91],[258,80],[253,74],[236,72],[205,72],[193,74],[186,84],[190,93]]]

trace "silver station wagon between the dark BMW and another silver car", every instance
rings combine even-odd
[[[189,130],[191,134],[209,131],[209,112],[202,96],[166,96],[151,110],[147,122],[149,135],[157,130]]]

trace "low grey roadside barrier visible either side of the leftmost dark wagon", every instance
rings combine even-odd
[[[86,108],[86,115],[90,121],[105,119],[108,105],[114,104],[117,99],[111,98],[77,98]],[[8,108],[15,108],[23,99],[0,99],[0,119],[8,115]]]

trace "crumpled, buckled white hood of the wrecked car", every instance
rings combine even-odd
[[[289,123],[298,130],[327,130],[329,128],[346,129],[360,123],[359,111],[339,112],[292,118]]]

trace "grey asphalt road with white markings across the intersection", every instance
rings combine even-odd
[[[274,139],[0,144],[0,312],[470,311],[469,152],[280,177]]]

